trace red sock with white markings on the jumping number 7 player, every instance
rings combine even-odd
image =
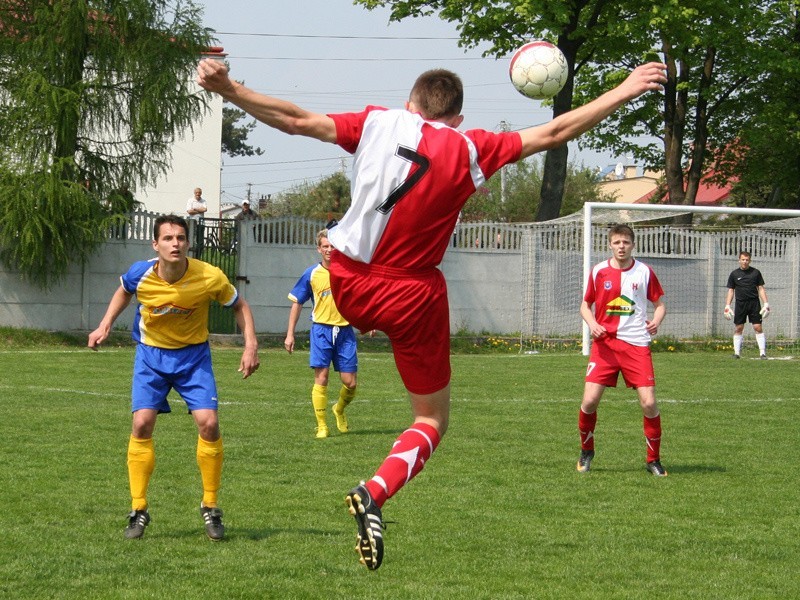
[[[365,484],[375,504],[383,506],[422,470],[439,439],[439,432],[425,423],[415,423],[400,434],[389,456]]]

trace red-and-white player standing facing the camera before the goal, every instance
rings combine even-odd
[[[577,469],[589,471],[594,458],[597,406],[609,386],[616,387],[619,374],[634,388],[644,413],[647,470],[663,477],[661,466],[661,415],[656,403],[650,340],[667,314],[661,299],[664,290],[653,269],[633,258],[633,230],[615,225],[608,232],[611,258],[592,269],[581,303],[581,316],[592,334],[583,402],[578,414],[581,454]],[[653,319],[647,319],[647,303]],[[592,310],[594,305],[594,311]]]

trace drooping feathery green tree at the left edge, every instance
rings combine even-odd
[[[0,260],[47,287],[106,238],[206,96],[191,0],[0,0]]]

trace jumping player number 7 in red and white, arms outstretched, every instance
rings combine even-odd
[[[417,475],[447,430],[450,315],[437,268],[469,196],[505,164],[555,148],[617,108],[666,82],[666,66],[636,68],[617,88],[550,123],[518,132],[459,131],[463,87],[437,69],[415,82],[405,109],[368,106],[319,114],[248,89],[224,64],[204,60],[198,83],[258,120],[292,135],[338,144],[355,155],[352,204],[329,231],[336,249],[331,286],[357,329],[385,332],[411,401],[414,421],[374,476],[346,502],[358,525],[361,562],[383,560],[384,502]]]

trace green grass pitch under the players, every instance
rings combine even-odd
[[[0,350],[0,596],[800,597],[796,360],[655,355],[669,470],[656,479],[623,387],[600,405],[592,471],[576,473],[584,357],[453,356],[450,431],[385,505],[369,572],[344,494],[410,422],[391,355],[361,354],[351,432],[331,415],[326,440],[307,353],[263,351],[246,381],[239,356],[214,350],[227,539],[212,543],[178,398],[155,431],[153,521],[123,539],[132,349]]]

